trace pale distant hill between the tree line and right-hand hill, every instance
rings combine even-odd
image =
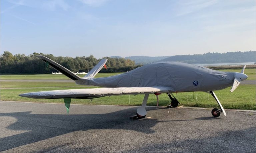
[[[121,56],[110,56],[110,57],[111,58],[123,58]],[[155,56],[155,57],[151,57],[151,56],[128,56],[128,57],[124,57],[124,58],[134,60],[135,64],[137,64],[137,65],[144,65],[144,64],[159,61],[159,60],[167,58],[167,57],[171,57],[171,56]]]

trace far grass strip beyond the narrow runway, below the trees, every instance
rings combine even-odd
[[[227,69],[220,70],[225,72],[241,72],[241,69]],[[118,75],[121,73],[98,73],[95,78],[108,77],[112,75]],[[245,74],[248,75],[247,80],[256,80],[256,69],[245,69]],[[78,75],[84,77],[84,75]],[[27,74],[27,75],[0,75],[0,79],[69,79],[65,75],[60,74]]]

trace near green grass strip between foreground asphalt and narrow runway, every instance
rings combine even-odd
[[[23,102],[44,102],[44,103],[63,103],[63,99],[31,99],[18,96],[22,93],[49,91],[49,90],[62,90],[62,89],[81,89],[81,88],[96,88],[96,87],[74,87],[74,83],[69,82],[1,82],[1,100],[6,101],[23,101]],[[16,83],[16,85],[15,85]],[[28,85],[26,85],[28,84]],[[47,88],[52,87],[52,88]],[[54,87],[55,86],[55,87]],[[58,86],[58,87],[56,87]],[[3,89],[3,88],[12,89]],[[18,87],[38,87],[30,89],[15,89]],[[42,88],[46,87],[46,88]],[[240,85],[233,93],[226,88],[224,90],[216,91],[218,99],[221,101],[225,109],[242,109],[242,110],[256,110],[255,105],[255,85]],[[174,96],[178,99],[181,105],[190,107],[204,107],[204,108],[218,108],[214,98],[204,92],[188,92],[178,93]],[[93,99],[90,104],[93,105],[130,105],[140,106],[142,104],[143,95],[122,95],[110,96]],[[170,99],[167,94],[159,95],[159,106],[167,106]],[[89,104],[86,99],[72,99],[72,104]],[[150,95],[147,106],[156,106],[156,96]]]

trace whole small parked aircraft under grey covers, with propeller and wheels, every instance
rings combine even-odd
[[[147,114],[145,107],[149,94],[158,95],[167,93],[171,99],[172,107],[177,107],[179,102],[172,93],[203,91],[211,94],[220,107],[219,109],[213,109],[212,115],[218,117],[220,113],[223,112],[226,116],[225,110],[214,91],[232,86],[230,91],[233,92],[241,81],[248,78],[248,76],[244,74],[246,65],[241,73],[237,73],[215,71],[206,67],[181,62],[158,62],[138,67],[127,73],[104,78],[94,78],[105,65],[107,59],[102,59],[87,75],[81,78],[45,56],[40,55],[37,57],[74,80],[76,84],[105,87],[42,91],[19,95],[28,98],[63,98],[67,112],[69,112],[72,98],[92,99],[112,95],[144,94],[142,106],[137,109],[138,118],[144,118]]]

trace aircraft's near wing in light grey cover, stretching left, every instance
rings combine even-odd
[[[113,95],[137,95],[153,93],[172,93],[175,92],[171,87],[121,87],[121,88],[93,88],[93,89],[69,89],[40,91],[20,94],[21,97],[38,99],[92,99]]]

